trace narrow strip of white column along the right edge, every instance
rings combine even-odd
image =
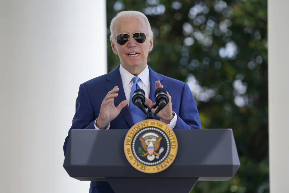
[[[268,1],[270,192],[288,191],[289,1]]]

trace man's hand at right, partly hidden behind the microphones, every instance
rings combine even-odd
[[[163,85],[160,84],[160,81],[156,81],[155,82],[156,84],[156,90],[158,88],[163,88]],[[168,97],[169,97],[169,102],[168,104],[162,109],[160,110],[160,112],[157,113],[157,116],[162,119],[162,121],[166,124],[169,124],[172,120],[172,118],[174,118],[174,115],[172,115],[172,98],[171,96],[169,95],[168,92],[166,92]],[[148,104],[149,107],[153,106],[153,102],[151,102],[150,99],[148,99],[147,97],[145,97],[145,103]],[[151,111],[154,113],[155,111],[157,110],[157,108],[155,109],[151,109]]]

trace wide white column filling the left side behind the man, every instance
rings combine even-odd
[[[79,84],[107,72],[105,0],[0,2],[0,192],[85,192],[63,168]]]

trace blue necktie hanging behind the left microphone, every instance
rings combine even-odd
[[[132,113],[132,120],[133,123],[136,124],[142,120],[145,119],[145,114],[139,109],[135,104],[132,102],[132,95],[135,92],[136,89],[140,88],[138,86],[138,81],[140,81],[140,78],[135,76],[132,78],[133,84],[132,84],[132,90],[130,91],[130,97],[129,97],[129,109]]]

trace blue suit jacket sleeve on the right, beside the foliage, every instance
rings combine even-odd
[[[201,129],[197,105],[187,83],[182,90],[178,119],[174,129]]]

